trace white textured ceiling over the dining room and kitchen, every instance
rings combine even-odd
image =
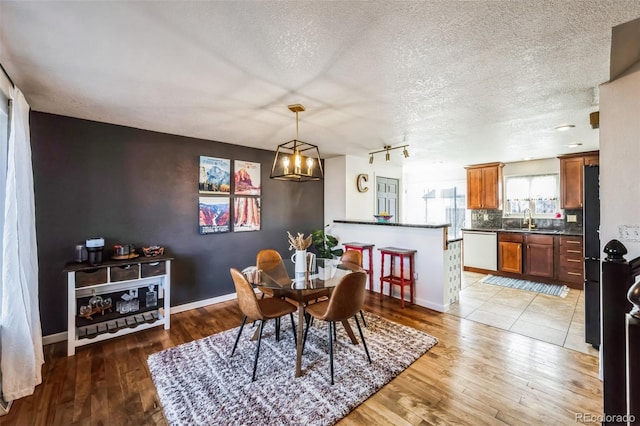
[[[275,149],[301,103],[325,158],[408,143],[409,167],[461,167],[597,149],[611,28],[639,16],[637,0],[2,0],[0,63],[37,111]]]

